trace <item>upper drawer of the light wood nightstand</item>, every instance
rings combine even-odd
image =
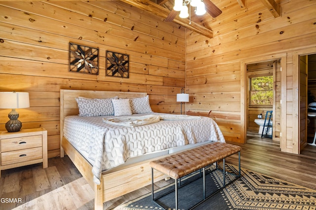
[[[1,152],[28,149],[40,146],[42,146],[41,135],[1,140]]]

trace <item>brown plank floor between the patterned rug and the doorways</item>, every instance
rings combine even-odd
[[[295,155],[281,152],[279,142],[259,135],[248,136],[246,144],[237,145],[242,147],[241,167],[316,189],[316,146],[307,145]],[[237,165],[237,158],[234,155],[226,160]]]

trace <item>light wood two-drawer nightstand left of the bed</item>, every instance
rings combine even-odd
[[[47,131],[44,128],[18,132],[0,132],[1,171],[20,166],[43,163],[47,168]]]

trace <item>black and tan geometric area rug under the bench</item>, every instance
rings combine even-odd
[[[210,172],[214,166],[207,171]],[[233,180],[238,173],[237,167],[227,165],[227,181]],[[179,209],[188,210],[316,210],[316,190],[309,189],[272,176],[263,175],[247,169],[241,169],[241,177],[214,194],[209,199],[194,207],[203,200],[202,178],[194,174],[182,182],[190,182],[178,190]],[[206,196],[223,186],[223,173],[215,171],[206,175]],[[174,189],[174,184],[156,190],[155,198]],[[151,193],[117,207],[115,210],[163,210],[152,201]],[[167,210],[174,210],[174,192],[158,199]]]

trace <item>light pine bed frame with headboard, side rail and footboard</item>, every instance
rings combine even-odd
[[[151,167],[149,162],[161,157],[102,172],[101,183],[97,185],[93,182],[92,165],[64,138],[64,118],[68,115],[79,114],[78,105],[75,100],[79,96],[99,99],[118,96],[119,98],[131,99],[146,95],[146,93],[135,92],[60,90],[60,156],[64,157],[66,153],[94,190],[94,209],[103,210],[103,202],[110,201],[151,184]],[[156,172],[154,174],[154,181],[156,182],[165,177],[160,172]]]

